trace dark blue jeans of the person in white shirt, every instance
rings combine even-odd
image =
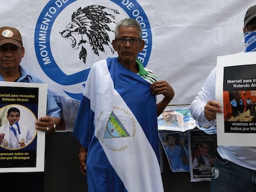
[[[256,191],[256,171],[250,170],[216,155],[212,170],[211,192],[252,192]]]

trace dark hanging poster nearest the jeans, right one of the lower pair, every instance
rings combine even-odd
[[[217,148],[216,134],[199,129],[188,132],[190,181],[210,181]]]

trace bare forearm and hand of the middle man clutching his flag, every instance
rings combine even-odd
[[[151,84],[152,94],[163,94],[164,98],[156,105],[157,117],[164,111],[165,107],[169,104],[174,97],[174,90],[166,81],[156,81]]]

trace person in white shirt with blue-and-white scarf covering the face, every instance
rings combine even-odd
[[[243,31],[245,52],[256,51],[256,6],[247,10]],[[216,113],[223,112],[221,104],[215,100],[215,82],[216,67],[211,70],[190,106],[192,117],[202,125],[215,126]],[[218,146],[212,169],[211,192],[255,191],[255,187],[256,147]]]

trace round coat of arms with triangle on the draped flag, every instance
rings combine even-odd
[[[104,143],[104,148],[116,152],[127,149],[136,137],[138,127],[138,122],[129,109],[112,106],[111,109],[105,109],[95,115],[96,137],[100,143]],[[122,141],[117,141],[117,138]]]

